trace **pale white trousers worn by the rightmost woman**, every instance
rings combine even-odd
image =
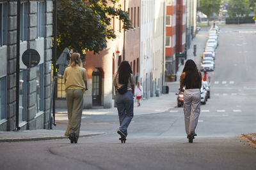
[[[188,89],[184,92],[184,118],[186,133],[195,133],[198,117],[200,115],[201,93],[200,89]]]

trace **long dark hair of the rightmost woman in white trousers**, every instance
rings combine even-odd
[[[196,64],[193,60],[187,60],[186,64],[184,66],[184,69],[182,71],[182,73],[186,73],[186,78],[185,78],[185,82],[189,82],[191,84],[192,87],[195,87],[195,85],[198,84],[198,82],[200,82],[200,75],[198,73],[198,69],[196,67]]]

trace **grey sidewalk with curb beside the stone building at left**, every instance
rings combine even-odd
[[[65,131],[46,130],[46,129],[28,130],[28,131],[12,131],[12,132],[0,131],[0,143],[67,139],[67,136],[64,136],[64,133]],[[104,133],[80,131],[79,138],[92,137],[100,134],[104,134]]]

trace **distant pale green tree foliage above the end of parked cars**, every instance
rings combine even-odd
[[[213,13],[219,15],[220,5],[221,0],[200,0],[200,11],[207,15],[207,18],[209,19],[210,17],[212,17]]]

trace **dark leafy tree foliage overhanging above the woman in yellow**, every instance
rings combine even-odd
[[[130,29],[131,22],[127,12],[104,0],[59,0],[57,19],[58,56],[65,47],[74,48],[83,54],[86,51],[99,53],[107,47],[108,39],[115,39],[111,29],[114,16],[124,22],[124,29]]]

